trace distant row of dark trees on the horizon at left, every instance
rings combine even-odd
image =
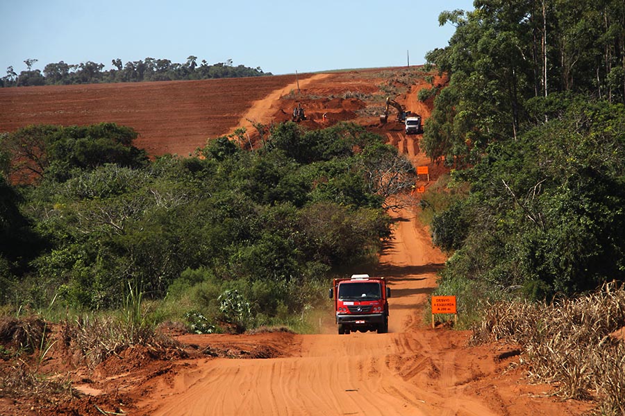
[[[128,61],[119,58],[112,60],[113,69],[104,70],[104,64],[81,62],[66,64],[63,61],[47,64],[43,73],[33,69],[38,60],[27,59],[26,71],[16,73],[13,67],[6,69],[6,76],[0,78],[0,87],[28,87],[31,85],[72,85],[94,83],[140,83],[142,81],[205,80],[209,78],[238,78],[245,76],[264,76],[272,73],[263,72],[260,67],[249,68],[243,65],[233,66],[232,60],[208,64],[206,60],[197,63],[197,56],[189,56],[187,62],[180,64],[168,59],[145,58]]]

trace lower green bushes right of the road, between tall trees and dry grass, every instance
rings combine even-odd
[[[458,172],[469,195],[433,221],[435,241],[456,250],[447,276],[537,299],[624,279],[624,127],[623,105],[572,100]]]

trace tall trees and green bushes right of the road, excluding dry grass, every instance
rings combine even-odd
[[[574,295],[625,277],[625,3],[478,0],[428,62],[449,76],[426,122],[454,168],[431,193],[441,291]],[[451,289],[454,288],[454,289]],[[468,299],[469,297],[465,297]]]

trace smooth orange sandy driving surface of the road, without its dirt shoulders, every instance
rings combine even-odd
[[[422,326],[421,306],[443,257],[410,214],[397,221],[381,260],[393,295],[390,333],[296,336],[299,356],[196,362],[144,408],[153,415],[499,414],[458,391],[458,350],[445,350],[467,334],[449,331],[442,343]]]

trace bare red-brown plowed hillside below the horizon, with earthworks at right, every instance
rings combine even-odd
[[[403,76],[403,78],[406,78]],[[91,84],[0,89],[0,131],[31,124],[88,125],[113,122],[139,133],[135,146],[149,155],[188,155],[251,122],[270,124],[290,119],[301,103],[308,128],[354,121],[381,132],[404,153],[416,155],[415,143],[403,139],[401,125],[380,126],[387,92],[406,109],[427,118],[430,109],[417,101],[423,80],[402,80],[392,69],[365,69],[319,74],[231,78],[201,81]],[[299,89],[298,89],[299,87]],[[349,97],[349,98],[345,98]],[[393,117],[394,109],[391,109]],[[326,121],[323,121],[323,114]],[[363,115],[365,114],[365,115]]]

